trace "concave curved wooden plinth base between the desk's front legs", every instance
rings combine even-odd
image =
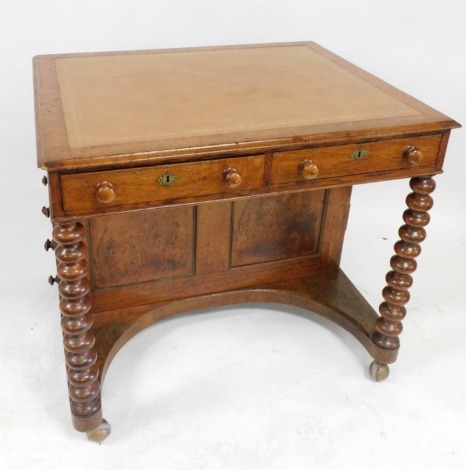
[[[372,341],[379,315],[343,271],[338,270],[274,284],[95,313],[95,347],[101,381],[121,347],[148,326],[182,313],[247,302],[274,302],[301,307],[310,318],[316,313],[349,331],[376,363],[386,366],[396,361],[397,349],[384,349]]]

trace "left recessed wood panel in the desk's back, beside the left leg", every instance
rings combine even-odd
[[[184,206],[91,219],[94,289],[193,275],[195,211]]]

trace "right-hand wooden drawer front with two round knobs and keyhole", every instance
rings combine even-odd
[[[440,135],[434,135],[277,152],[273,155],[272,184],[435,165],[440,139]]]

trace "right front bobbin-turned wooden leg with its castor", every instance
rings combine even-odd
[[[429,223],[428,210],[433,200],[430,193],[435,190],[431,177],[412,178],[413,190],[406,198],[408,209],[403,214],[405,225],[399,230],[401,240],[395,243],[396,255],[390,260],[392,271],[386,276],[387,286],[383,289],[384,302],[380,304],[380,317],[375,324],[372,341],[380,348],[397,351],[400,347],[399,335],[403,329],[401,321],[406,316],[405,304],[409,301],[408,289],[413,283],[411,274],[416,270],[415,258],[421,253],[420,243],[426,237],[424,227]],[[388,377],[386,364],[374,361],[370,367],[371,376],[377,380]]]

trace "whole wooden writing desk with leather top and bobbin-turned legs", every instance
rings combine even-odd
[[[126,341],[207,307],[324,315],[388,376],[455,121],[314,43],[39,56],[34,78],[77,430],[110,433]],[[352,186],[395,178],[411,192],[377,313],[340,255]]]

